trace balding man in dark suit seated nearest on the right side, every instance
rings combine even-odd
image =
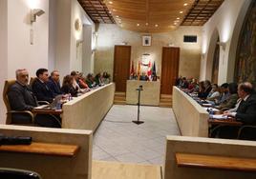
[[[243,126],[256,126],[256,94],[252,85],[245,82],[239,85],[238,95],[241,102],[236,111],[225,111],[224,115],[234,117],[236,121],[242,122]],[[239,127],[224,126],[219,129],[219,136],[221,138],[237,138]],[[242,139],[255,140],[255,129],[244,129]]]

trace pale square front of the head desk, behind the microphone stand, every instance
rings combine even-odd
[[[127,80],[126,82],[126,104],[138,104],[138,88],[140,92],[140,105],[160,106],[160,81]]]

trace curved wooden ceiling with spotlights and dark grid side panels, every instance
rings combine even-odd
[[[224,0],[78,0],[96,23],[126,30],[163,32],[203,26]]]

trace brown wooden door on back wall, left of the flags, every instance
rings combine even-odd
[[[126,91],[126,81],[130,75],[131,46],[115,46],[114,78],[116,91]]]

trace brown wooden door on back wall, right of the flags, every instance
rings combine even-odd
[[[179,75],[180,48],[162,48],[160,93],[172,94]]]

